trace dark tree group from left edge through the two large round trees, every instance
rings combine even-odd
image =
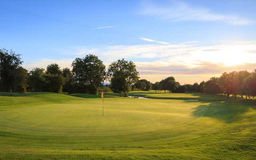
[[[0,91],[2,92],[68,92],[96,94],[103,88],[104,80],[111,82],[113,92],[125,96],[139,79],[139,72],[132,61],[124,59],[112,62],[108,70],[97,56],[92,54],[76,58],[69,68],[60,69],[58,64],[46,68],[22,68],[20,54],[0,49]],[[104,88],[106,89],[106,87]]]

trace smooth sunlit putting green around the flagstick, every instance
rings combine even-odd
[[[65,98],[70,96],[63,95]],[[195,117],[193,112],[201,102],[105,98],[105,116],[102,116],[101,99],[71,98],[74,102],[32,104],[4,110],[0,112],[0,130],[59,136],[108,136],[169,130],[170,137],[182,132],[184,135],[197,135],[192,126],[196,126],[202,134],[221,129],[224,125],[218,122],[218,125],[212,126],[216,120]],[[204,131],[204,128],[207,130]]]

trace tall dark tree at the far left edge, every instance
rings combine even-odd
[[[16,69],[22,64],[20,54],[12,50],[0,49],[0,90],[8,92],[16,86]]]

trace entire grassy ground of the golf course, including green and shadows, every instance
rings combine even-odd
[[[0,159],[255,159],[256,104],[204,94],[0,94]],[[199,100],[191,102],[187,100]]]

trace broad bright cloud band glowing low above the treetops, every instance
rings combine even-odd
[[[181,83],[192,83],[208,80],[210,76],[225,71],[253,70],[256,66],[255,51],[256,42],[80,46],[70,49],[69,54],[73,58],[43,59],[25,62],[23,66],[29,70],[34,67],[46,68],[50,63],[58,63],[62,68],[70,67],[76,57],[94,54],[106,67],[120,58],[132,60],[140,71],[140,77],[152,82],[172,75]]]

